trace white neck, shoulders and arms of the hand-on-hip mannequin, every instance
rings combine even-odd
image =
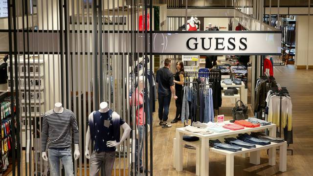
[[[108,103],[107,102],[102,102],[100,103],[100,110],[99,112],[102,112],[102,113],[105,113],[105,112],[108,112],[109,110],[109,107],[108,107]],[[89,114],[89,118],[92,117],[93,115],[93,112],[91,112]],[[112,113],[112,116],[113,115],[116,115],[119,117],[119,115],[116,113],[116,112],[113,112]],[[112,117],[113,118],[113,117]],[[108,141],[107,142],[107,146],[108,147],[115,147],[115,146],[118,146],[121,142],[123,142],[128,136],[129,136],[129,133],[131,132],[131,128],[129,127],[129,125],[127,123],[124,123],[123,125],[121,125],[121,127],[123,128],[123,135],[120,139],[119,142],[116,142],[115,140],[114,141]],[[91,137],[90,137],[90,129],[89,129],[89,126],[88,126],[88,130],[87,130],[87,133],[86,133],[86,145],[85,145],[85,156],[86,158],[90,159],[90,155],[89,155],[89,144],[91,142]]]

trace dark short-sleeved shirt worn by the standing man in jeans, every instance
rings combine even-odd
[[[156,71],[157,93],[160,96],[168,96],[171,93],[171,86],[174,86],[174,74],[167,67]]]

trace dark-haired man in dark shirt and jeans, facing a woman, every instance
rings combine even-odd
[[[165,59],[164,67],[156,71],[158,118],[160,119],[159,125],[162,126],[162,128],[172,127],[172,125],[168,124],[166,121],[168,119],[171,97],[173,96],[175,100],[177,99],[175,95],[174,74],[170,71],[170,66],[171,60]]]

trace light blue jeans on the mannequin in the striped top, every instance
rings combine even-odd
[[[48,159],[50,164],[50,176],[60,176],[60,159],[63,163],[66,176],[74,176],[73,160],[70,148],[48,149]]]

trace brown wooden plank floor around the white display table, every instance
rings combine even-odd
[[[287,172],[279,172],[279,154],[276,166],[268,165],[266,151],[261,152],[261,165],[249,163],[248,158],[235,157],[235,176],[313,176],[313,70],[297,70],[293,66],[275,66],[274,77],[282,87],[287,87],[293,105],[293,155],[288,152]],[[232,106],[228,100],[223,105]],[[170,105],[170,122],[175,116],[175,101]],[[230,117],[230,108],[222,107],[220,114]],[[250,115],[251,112],[250,112]],[[175,129],[182,127],[180,122],[172,128],[158,126],[157,112],[154,114],[153,134],[153,175],[154,176],[194,176],[196,173],[195,150],[183,149],[183,171],[173,168],[173,138]],[[225,175],[225,157],[210,154],[209,173],[211,176]]]

